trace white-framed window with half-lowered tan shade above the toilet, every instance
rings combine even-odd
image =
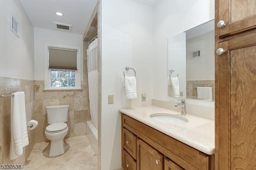
[[[80,47],[56,47],[47,45],[46,48],[45,89],[80,89]]]

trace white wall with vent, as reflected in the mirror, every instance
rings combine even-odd
[[[190,58],[200,49],[200,57]],[[214,31],[186,41],[187,80],[214,80]]]

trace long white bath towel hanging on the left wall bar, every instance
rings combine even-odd
[[[26,109],[24,92],[16,92],[11,97],[11,144],[10,160],[23,154],[23,147],[28,145]]]

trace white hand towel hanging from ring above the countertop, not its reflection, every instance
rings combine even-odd
[[[124,86],[126,91],[126,99],[136,99],[137,98],[136,77],[125,76]]]

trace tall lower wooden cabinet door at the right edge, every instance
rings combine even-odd
[[[256,169],[256,33],[218,44],[216,169]]]

